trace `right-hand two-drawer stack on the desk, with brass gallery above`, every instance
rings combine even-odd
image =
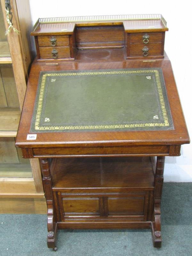
[[[124,22],[126,59],[164,57],[166,21],[163,19]]]

